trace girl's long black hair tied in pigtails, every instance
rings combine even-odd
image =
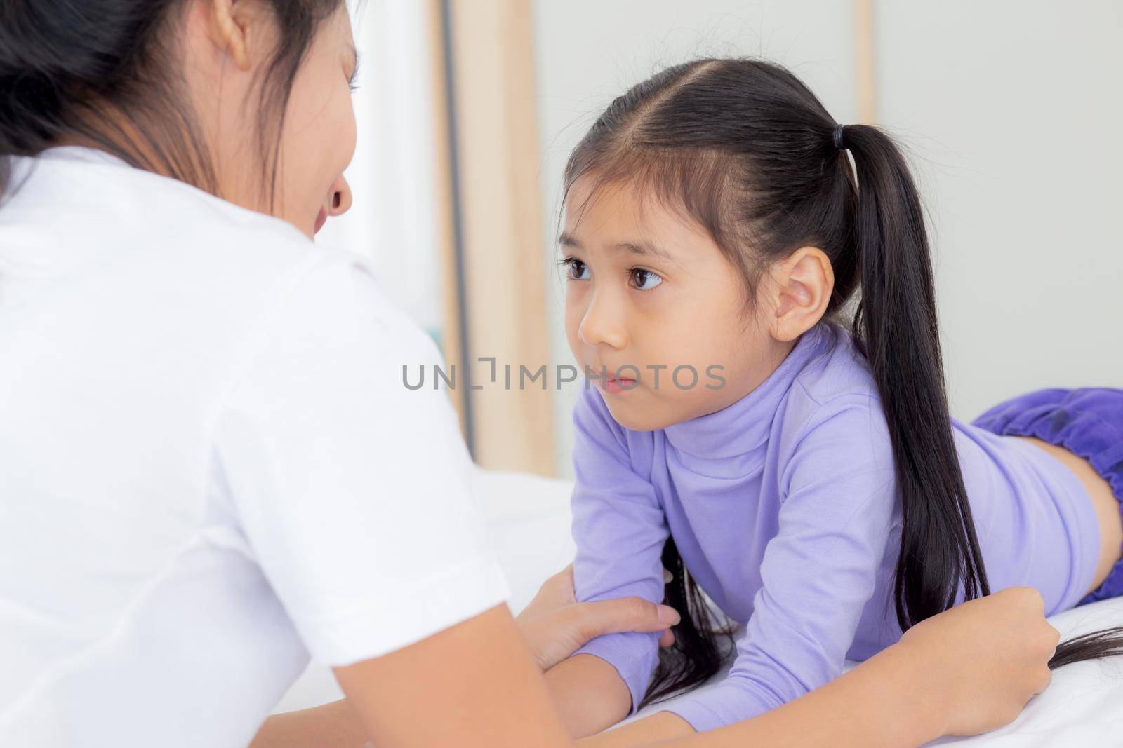
[[[837,123],[791,72],[757,59],[669,67],[614,100],[566,165],[565,191],[629,183],[701,224],[741,276],[749,299],[761,273],[804,246],[834,271],[827,317],[850,318],[877,382],[902,501],[894,604],[902,629],[989,593],[952,441],[932,264],[920,196],[893,140]],[[838,141],[841,141],[839,144]],[[853,166],[847,150],[853,158]],[[595,192],[595,190],[594,190]],[[683,612],[675,646],[643,703],[697,685],[724,653],[705,600],[674,542],[667,604]],[[1121,652],[1121,630],[1063,643],[1051,666]]]

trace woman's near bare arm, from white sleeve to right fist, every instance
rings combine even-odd
[[[904,748],[1013,720],[1049,682],[1057,630],[1010,589],[931,618],[837,681],[759,718],[664,748]],[[378,748],[573,746],[504,606],[336,675]],[[612,733],[579,746],[611,742]]]

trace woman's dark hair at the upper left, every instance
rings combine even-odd
[[[296,71],[343,0],[263,0],[277,39],[258,81],[261,186],[272,209],[280,133]],[[10,156],[64,137],[219,195],[214,165],[180,71],[184,0],[0,2],[0,197]],[[221,196],[221,195],[220,195]]]

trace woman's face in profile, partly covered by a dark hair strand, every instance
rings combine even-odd
[[[222,195],[266,211],[258,175],[259,82],[276,40],[266,3],[199,0],[190,25],[195,100],[211,128]],[[281,132],[273,213],[310,238],[350,207],[343,172],[355,153],[350,82],[357,66],[345,3],[317,28],[293,81]]]

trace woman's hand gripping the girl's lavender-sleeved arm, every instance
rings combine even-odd
[[[590,639],[618,631],[663,631],[661,646],[670,646],[670,627],[679,620],[674,608],[641,598],[577,602],[573,564],[546,580],[515,622],[542,671],[557,665]]]

